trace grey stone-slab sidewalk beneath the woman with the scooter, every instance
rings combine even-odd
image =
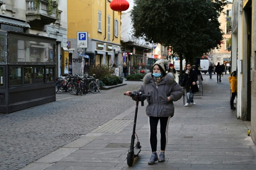
[[[250,136],[247,136],[249,122],[238,120],[234,111],[230,110],[228,75],[224,75],[222,83],[216,82],[216,75],[213,75],[213,79],[206,75],[203,78],[204,92],[203,95],[195,95],[196,105],[184,107],[182,100],[174,102],[175,115],[168,129],[165,162],[153,165],[147,163],[151,155],[148,118],[145,114],[146,106],[139,106],[136,132],[142,151],[132,167],[128,167],[126,162],[128,148],[106,146],[109,143],[130,143],[133,122],[118,133],[96,134],[93,139],[87,139],[84,145],[80,138],[81,141],[77,139],[77,142],[72,142],[73,145],[67,144],[65,148],[73,148],[74,152],[54,164],[49,162],[46,169],[255,169],[256,147]],[[133,106],[113,120],[133,120],[134,110]],[[88,134],[93,136],[94,133]]]

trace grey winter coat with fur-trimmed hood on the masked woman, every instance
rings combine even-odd
[[[143,85],[138,90],[143,94],[150,94],[150,99],[147,97],[147,116],[173,117],[173,101],[181,99],[184,93],[183,88],[175,82],[175,77],[171,73],[168,73],[158,85],[154,83],[151,74],[147,73],[145,75]],[[169,102],[168,96],[171,98]]]

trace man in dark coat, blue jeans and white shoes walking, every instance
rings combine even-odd
[[[187,102],[184,106],[195,105],[194,102],[194,93],[199,92],[197,86],[197,73],[191,69],[191,63],[186,63],[186,71],[184,75],[183,83],[181,84],[182,87],[186,88],[186,96]]]

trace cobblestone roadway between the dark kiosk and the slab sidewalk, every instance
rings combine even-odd
[[[63,92],[55,102],[0,114],[0,169],[25,167],[106,123],[135,105],[123,92],[141,85],[128,82],[83,96]]]

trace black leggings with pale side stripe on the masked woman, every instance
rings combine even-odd
[[[168,126],[169,126],[169,117],[152,117],[149,116],[149,128],[150,128],[150,145],[151,145],[151,151],[155,152],[157,151],[157,124],[160,119],[160,134],[161,134],[161,150],[165,151],[167,141],[168,141]],[[168,126],[167,126],[168,125]]]

